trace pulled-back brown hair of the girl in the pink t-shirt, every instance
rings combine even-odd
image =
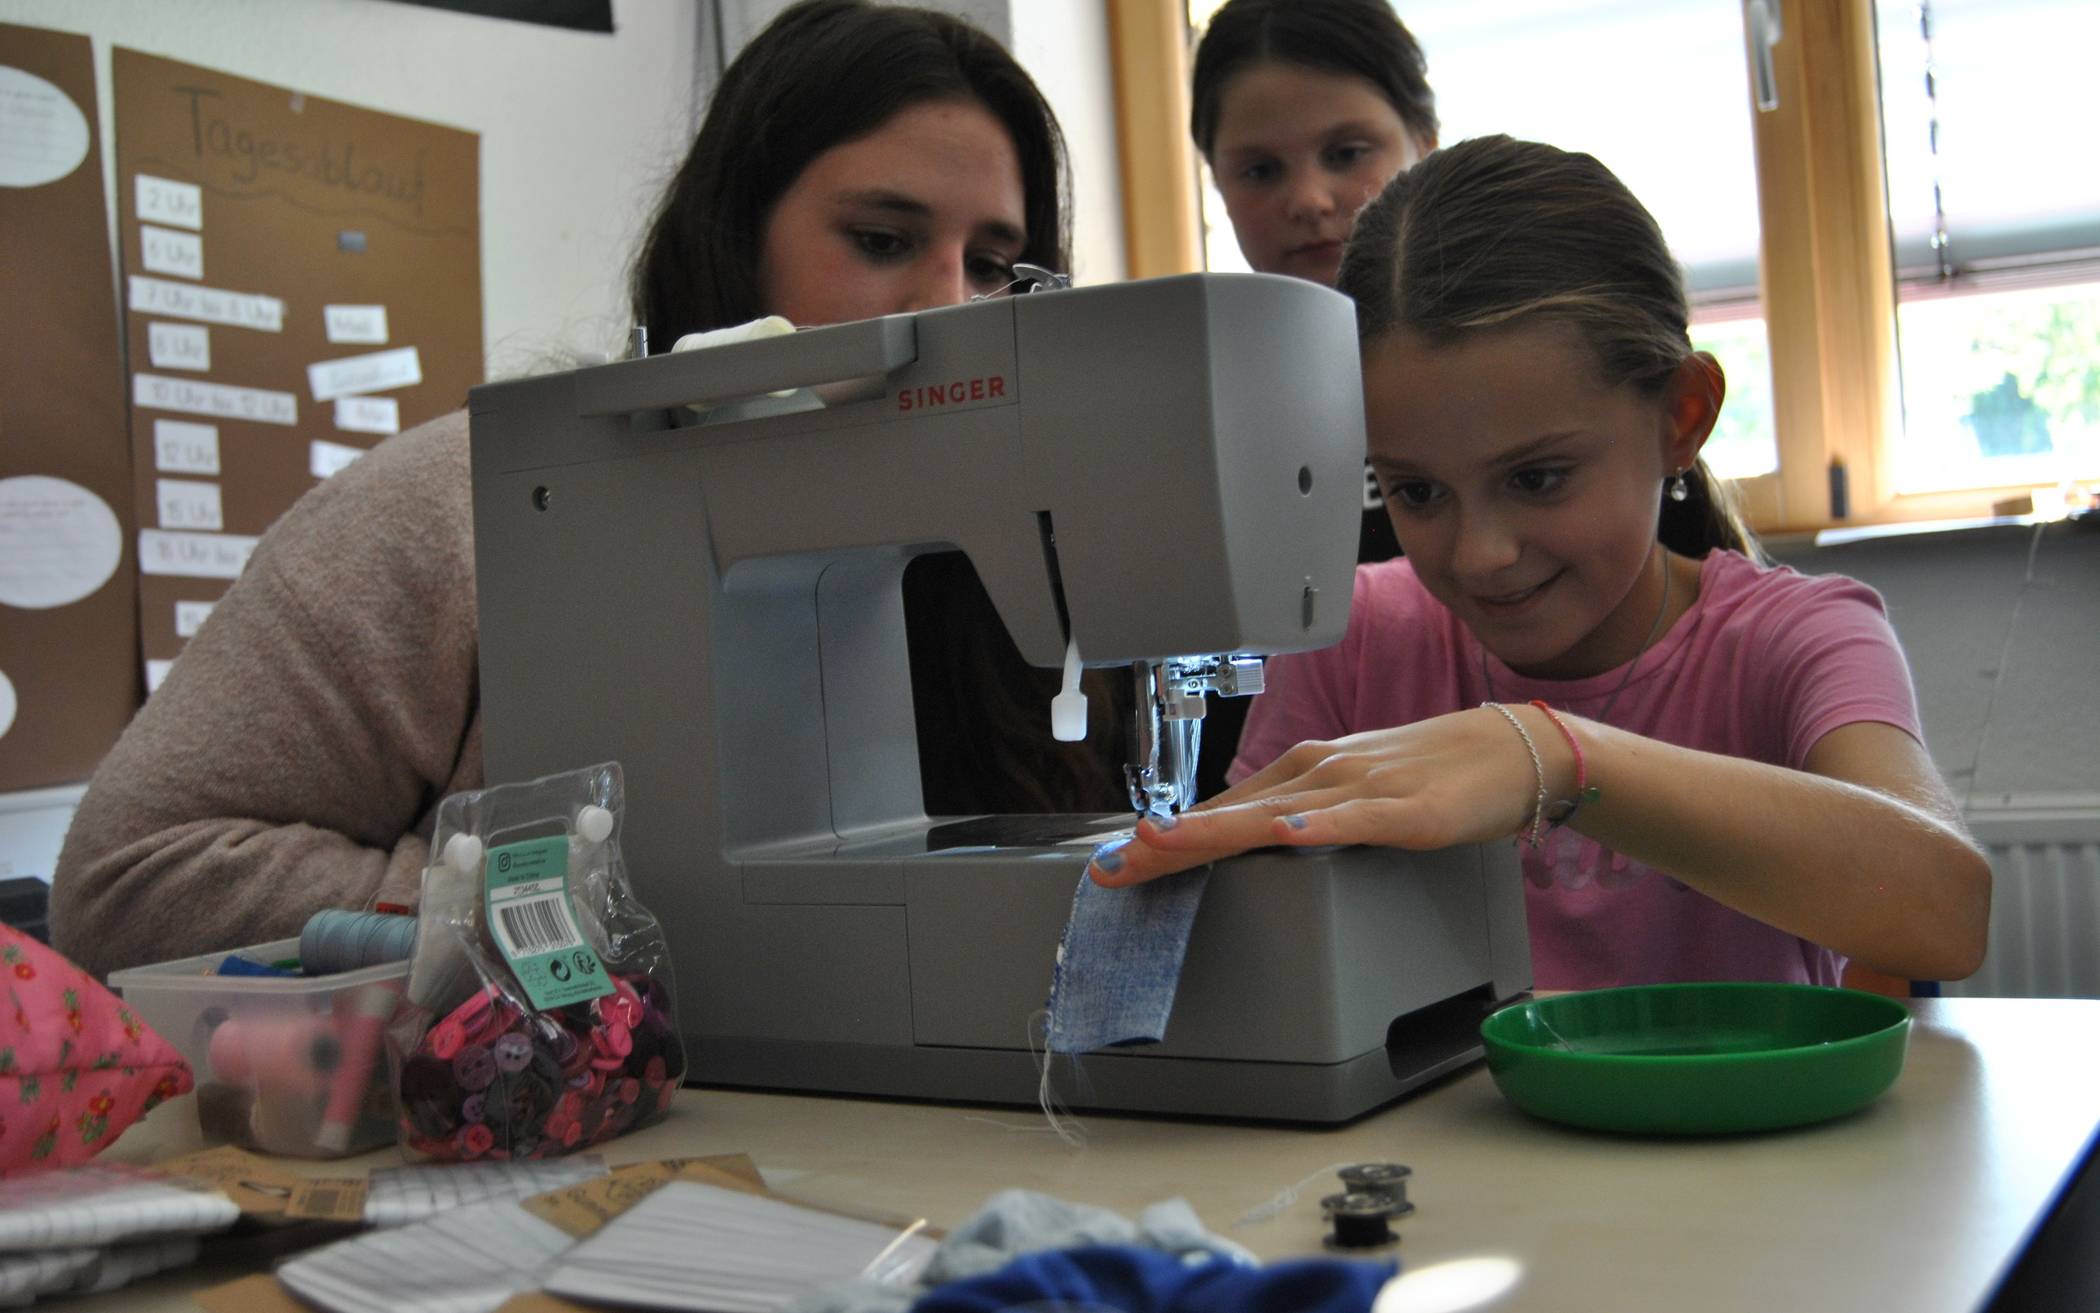
[[[1338,288],[1365,347],[1401,330],[1438,347],[1518,319],[1569,324],[1609,387],[1648,397],[1693,353],[1684,277],[1655,216],[1592,155],[1535,141],[1476,137],[1392,179],[1357,214]],[[1684,487],[1682,502],[1661,500],[1663,546],[1762,555],[1705,460]]]

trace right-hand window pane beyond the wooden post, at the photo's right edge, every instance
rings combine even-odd
[[[2100,6],[1888,0],[1877,46],[1896,492],[2100,477],[2100,170],[2073,162]]]

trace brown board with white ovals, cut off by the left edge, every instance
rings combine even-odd
[[[130,435],[88,38],[0,23],[0,792],[139,706]]]

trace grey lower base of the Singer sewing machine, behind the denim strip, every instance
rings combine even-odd
[[[941,847],[949,821],[743,861],[741,897],[699,918],[701,979],[678,981],[689,1078],[1035,1105],[1090,845],[1014,824],[1029,842]],[[1363,1116],[1480,1057],[1480,1019],[1531,987],[1522,901],[1508,845],[1220,861],[1163,1042],[1056,1057],[1052,1092],[1144,1113]]]

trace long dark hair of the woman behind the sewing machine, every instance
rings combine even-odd
[[[758,286],[773,206],[811,160],[901,109],[974,101],[1014,141],[1023,260],[1069,269],[1065,137],[1000,42],[930,8],[802,0],[737,55],[634,258],[634,321],[655,351],[766,313]]]

